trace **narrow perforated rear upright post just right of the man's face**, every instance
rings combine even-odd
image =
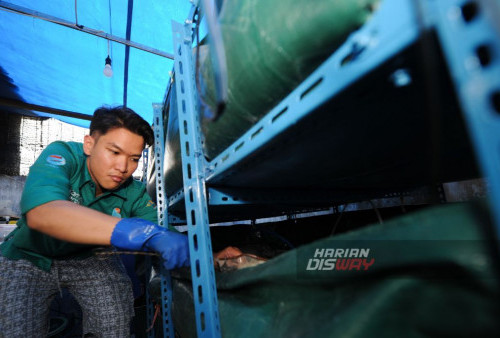
[[[156,179],[156,205],[158,211],[158,225],[162,227],[168,227],[168,214],[167,214],[167,204],[166,196],[164,192],[163,184],[163,156],[165,150],[165,138],[163,132],[163,115],[162,115],[162,105],[153,104],[154,110],[154,165],[155,165],[155,179]],[[163,337],[175,337],[174,325],[172,321],[172,280],[170,278],[170,273],[161,267],[161,309],[162,309],[162,327],[163,327]],[[147,297],[147,314],[148,323],[153,322],[153,306],[151,304],[151,299],[149,297],[149,292]],[[148,337],[154,337],[154,329],[152,329]]]

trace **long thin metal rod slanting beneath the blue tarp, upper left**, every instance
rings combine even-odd
[[[67,27],[67,28],[72,28],[72,29],[75,29],[77,31],[84,32],[84,33],[87,33],[87,34],[92,34],[92,35],[98,36],[98,37],[106,39],[106,40],[111,40],[111,41],[114,41],[114,42],[118,42],[118,43],[121,43],[123,45],[130,46],[130,47],[133,47],[133,48],[136,48],[136,49],[140,49],[140,50],[143,50],[145,52],[152,53],[152,54],[155,54],[155,55],[158,55],[158,56],[162,56],[162,57],[165,57],[165,58],[168,58],[168,59],[171,59],[171,60],[174,59],[174,55],[171,54],[171,53],[167,53],[167,52],[158,50],[156,48],[148,47],[148,46],[142,45],[142,44],[137,43],[137,42],[133,42],[133,41],[130,41],[130,40],[122,39],[122,38],[120,38],[118,36],[107,34],[107,33],[103,32],[103,31],[98,31],[98,30],[95,30],[95,29],[92,29],[92,28],[87,28],[87,27],[84,27],[82,25],[76,25],[73,22],[70,22],[70,21],[67,21],[67,20],[64,20],[64,19],[60,19],[60,18],[57,18],[55,16],[51,16],[51,15],[48,15],[48,14],[44,14],[44,13],[41,13],[41,12],[33,11],[33,10],[31,10],[29,8],[26,8],[26,7],[13,5],[13,4],[10,4],[10,3],[5,2],[5,1],[0,1],[0,8],[12,11],[14,13],[28,15],[28,16],[31,16],[31,17],[34,17],[34,18],[37,18],[37,19],[41,19],[41,20],[52,22],[52,23],[56,23],[58,25],[61,25],[61,26]]]

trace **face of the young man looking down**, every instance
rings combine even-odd
[[[142,150],[144,139],[125,128],[115,128],[106,134],[86,135],[83,150],[87,168],[96,183],[96,196],[104,190],[114,190],[132,176]]]

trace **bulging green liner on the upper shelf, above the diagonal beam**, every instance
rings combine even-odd
[[[216,121],[202,119],[204,151],[216,157],[325,61],[372,14],[380,0],[225,1],[220,12],[228,72],[228,102]],[[200,48],[201,116],[215,107],[208,46]],[[196,53],[193,52],[193,55]],[[171,104],[170,116],[177,114]],[[168,194],[182,187],[179,129],[169,125]],[[179,181],[179,178],[181,181]]]

